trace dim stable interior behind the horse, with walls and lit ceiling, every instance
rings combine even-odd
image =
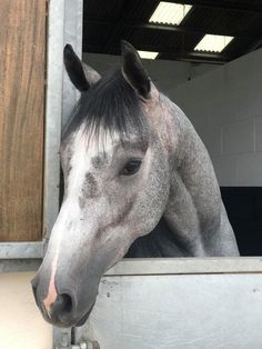
[[[262,255],[262,3],[85,0],[83,60],[100,73],[131,42],[212,159],[241,256]]]

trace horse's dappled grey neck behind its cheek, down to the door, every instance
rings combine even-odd
[[[170,197],[160,225],[135,240],[128,257],[238,256],[208,151],[182,111],[165,97],[162,103],[172,111]]]

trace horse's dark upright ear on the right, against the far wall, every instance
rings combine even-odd
[[[128,41],[121,41],[122,73],[129,84],[143,98],[149,98],[150,78],[143,68],[138,51]]]

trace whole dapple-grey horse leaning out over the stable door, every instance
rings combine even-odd
[[[81,98],[61,142],[63,202],[32,280],[43,317],[56,326],[85,321],[102,275],[127,252],[239,255],[213,166],[194,128],[159,92],[125,41],[122,57],[121,69],[101,78],[64,48]]]

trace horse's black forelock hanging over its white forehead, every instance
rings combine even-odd
[[[145,129],[139,97],[124,80],[121,70],[105,73],[81,98],[63,131],[66,139],[84,122],[85,130],[99,136],[101,128],[118,132],[121,138],[132,128],[141,136]]]

